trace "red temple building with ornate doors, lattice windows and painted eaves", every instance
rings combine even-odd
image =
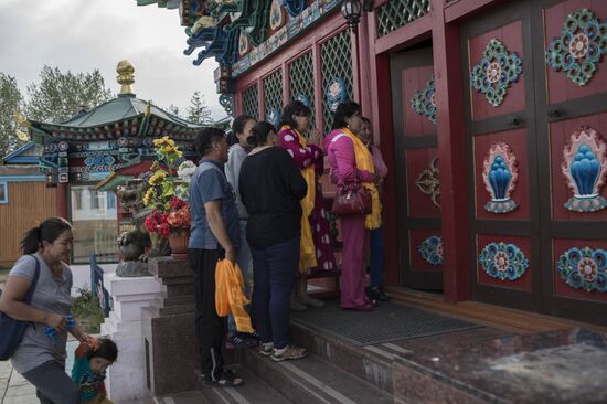
[[[179,8],[230,114],[276,124],[300,99],[327,134],[362,105],[393,294],[605,323],[606,2],[138,3]]]

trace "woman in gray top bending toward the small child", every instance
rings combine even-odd
[[[79,341],[88,340],[70,317],[72,270],[65,262],[73,241],[72,225],[61,217],[47,219],[28,231],[21,242],[24,255],[12,267],[0,295],[1,311],[17,320],[31,321],[11,362],[36,387],[43,404],[79,402],[78,387],[65,373],[67,331]],[[40,275],[32,300],[25,304],[23,298],[36,265]]]

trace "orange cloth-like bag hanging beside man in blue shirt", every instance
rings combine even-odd
[[[227,259],[215,266],[215,308],[217,316],[225,317],[232,312],[236,329],[239,332],[253,332],[251,317],[245,310],[248,299],[244,294],[243,275],[238,265]]]

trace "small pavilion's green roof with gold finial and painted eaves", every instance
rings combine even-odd
[[[195,155],[193,140],[202,128],[135,96],[135,68],[128,61],[117,67],[120,94],[89,111],[61,124],[29,121],[32,141],[42,145],[40,170],[49,185],[97,182],[110,173],[156,159],[153,139],[169,136],[183,155]]]

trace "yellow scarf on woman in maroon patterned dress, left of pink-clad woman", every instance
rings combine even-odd
[[[297,131],[297,129],[291,128],[288,125],[285,125],[280,130],[291,130],[297,134],[299,139],[299,146],[301,148],[308,147],[306,138]],[[316,262],[316,247],[315,241],[312,238],[312,228],[310,227],[310,222],[308,217],[315,209],[315,199],[316,199],[316,172],[315,166],[310,164],[300,170],[301,176],[308,184],[308,193],[300,201],[301,210],[303,214],[301,215],[301,240],[299,242],[299,272],[308,273],[311,268],[317,267]]]

